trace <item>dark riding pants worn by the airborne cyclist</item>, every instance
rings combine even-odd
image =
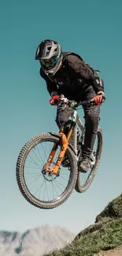
[[[79,92],[80,94],[80,92]],[[91,98],[94,98],[95,92],[92,86],[87,87],[87,90],[81,96],[81,101],[86,101]],[[79,97],[80,98],[80,97]],[[74,97],[73,97],[74,99]],[[78,101],[78,98],[75,98]],[[96,138],[96,134],[98,131],[98,123],[100,120],[100,106],[83,106],[84,110],[84,118],[85,118],[85,139],[83,146],[83,155],[90,156],[94,147],[94,141]],[[57,125],[60,127],[66,121],[68,121],[68,117],[72,113],[72,109],[68,106],[66,108],[57,109]],[[64,122],[63,122],[64,121]]]

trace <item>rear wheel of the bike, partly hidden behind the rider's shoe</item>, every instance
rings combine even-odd
[[[88,187],[91,186],[92,181],[94,180],[94,176],[97,173],[98,165],[102,156],[102,147],[103,147],[103,132],[101,128],[98,128],[98,133],[96,136],[95,143],[96,150],[95,154],[95,163],[91,165],[91,169],[87,173],[78,172],[76,187],[75,190],[79,193],[83,193],[87,191]]]

